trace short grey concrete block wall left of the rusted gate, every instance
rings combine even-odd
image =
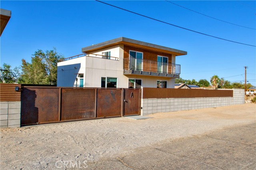
[[[0,102],[0,128],[20,127],[20,102]]]

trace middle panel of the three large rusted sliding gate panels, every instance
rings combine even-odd
[[[63,88],[61,121],[95,118],[95,89]]]

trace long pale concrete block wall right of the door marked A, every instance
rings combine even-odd
[[[142,99],[141,115],[244,104],[244,89],[233,89],[233,97]]]

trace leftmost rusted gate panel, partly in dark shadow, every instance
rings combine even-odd
[[[58,121],[58,101],[58,88],[22,87],[20,124],[24,126]]]

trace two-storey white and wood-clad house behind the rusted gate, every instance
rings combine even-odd
[[[82,48],[58,63],[57,86],[174,88],[180,77],[176,56],[186,51],[120,37]]]

